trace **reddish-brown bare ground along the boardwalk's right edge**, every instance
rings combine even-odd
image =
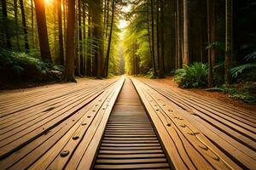
[[[172,88],[178,88],[177,82],[174,82],[173,77],[166,77],[164,79],[154,79],[157,82],[165,83]],[[180,89],[180,88],[179,88]],[[210,92],[206,91],[205,88],[182,88],[183,90],[199,94],[201,96],[206,96],[207,98],[218,99],[236,107],[240,107],[249,111],[256,111],[256,103],[245,103],[241,99],[232,99],[229,94],[224,94],[222,92]]]

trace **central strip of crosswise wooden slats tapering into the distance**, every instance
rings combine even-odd
[[[154,127],[129,78],[113,107],[95,169],[170,169]]]

